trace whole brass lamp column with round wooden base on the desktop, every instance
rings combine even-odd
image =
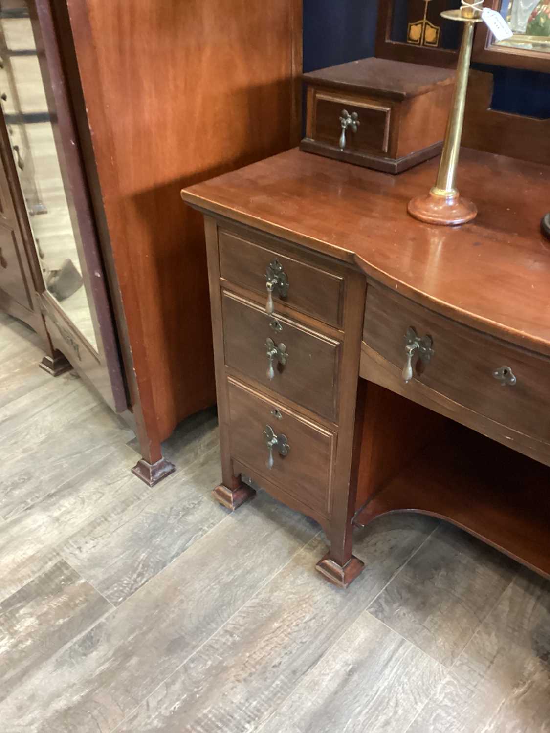
[[[469,199],[464,199],[455,186],[458,155],[461,149],[462,125],[466,106],[466,91],[472,45],[474,42],[474,26],[481,22],[481,5],[483,0],[462,0],[460,10],[445,10],[442,18],[460,21],[464,24],[461,51],[458,56],[455,92],[445,132],[443,152],[439,163],[436,185],[425,196],[417,196],[408,204],[408,213],[428,224],[464,224],[477,215],[477,207]]]

